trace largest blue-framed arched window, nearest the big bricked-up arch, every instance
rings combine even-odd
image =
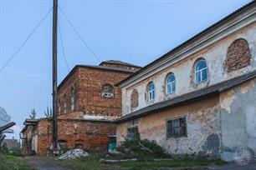
[[[207,62],[205,59],[200,59],[197,61],[195,66],[195,81],[196,83],[203,82],[207,80]]]

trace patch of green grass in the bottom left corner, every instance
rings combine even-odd
[[[6,170],[32,170],[27,160],[22,157],[0,155],[0,169]]]

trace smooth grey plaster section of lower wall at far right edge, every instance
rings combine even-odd
[[[223,159],[233,160],[239,149],[256,153],[256,78],[220,95]]]

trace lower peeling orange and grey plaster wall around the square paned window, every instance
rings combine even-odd
[[[187,116],[187,137],[166,138],[166,120],[182,116]],[[219,156],[221,137],[218,96],[120,123],[117,126],[117,142],[125,139],[123,137],[127,134],[127,128],[135,126],[141,139],[155,140],[169,153]]]

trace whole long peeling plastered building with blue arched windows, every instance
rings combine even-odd
[[[256,153],[256,1],[119,83],[124,137],[172,154],[234,160]],[[241,155],[243,157],[243,155]]]

